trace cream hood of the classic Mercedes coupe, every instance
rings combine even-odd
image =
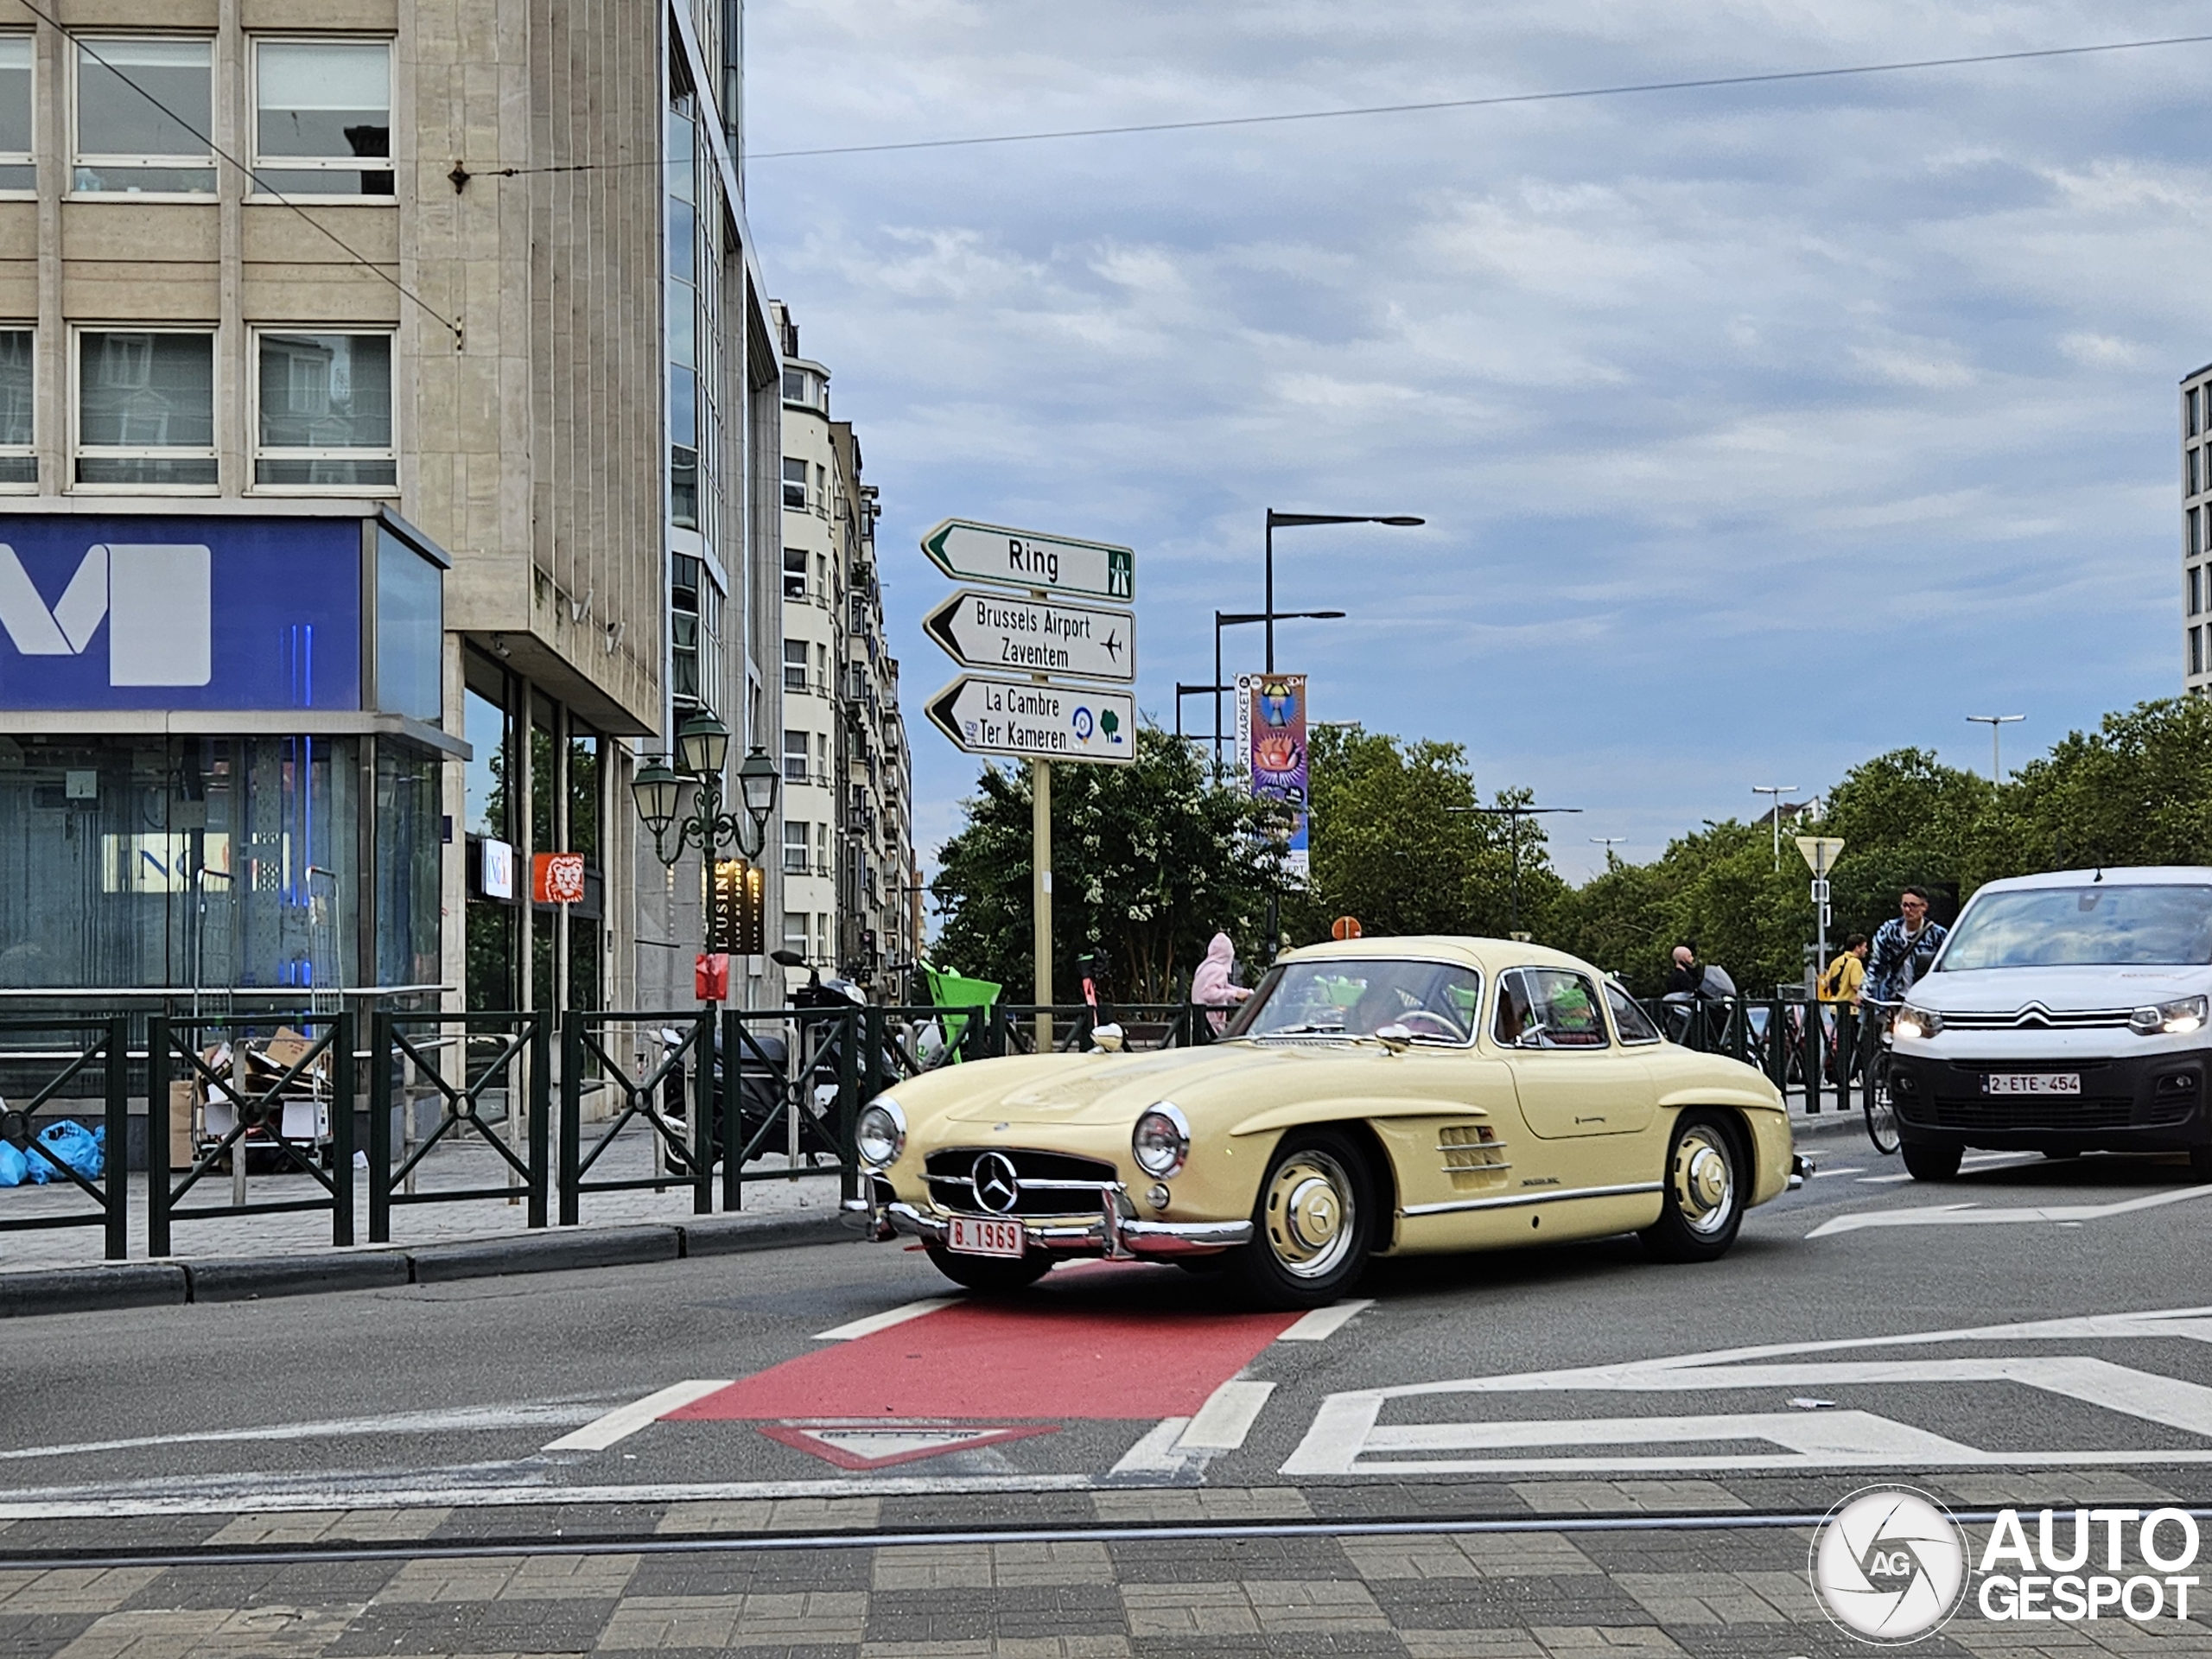
[[[1217,1088],[1265,1095],[1292,1068],[1345,1066],[1380,1057],[1374,1044],[1210,1044],[1141,1055],[1024,1055],[945,1066],[900,1084],[909,1115],[956,1124],[1117,1124],[1161,1099],[1186,1110]]]

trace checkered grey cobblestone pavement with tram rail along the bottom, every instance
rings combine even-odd
[[[2081,1489],[2097,1482],[2084,1475]],[[947,1506],[785,1500],[593,1511],[345,1511],[128,1522],[15,1522],[0,1557],[35,1548],[398,1546],[383,1559],[0,1568],[0,1655],[31,1659],[427,1659],[429,1655],[790,1655],[805,1659],[1170,1659],[1179,1655],[1409,1655],[1411,1659],[1840,1659],[1867,1648],[1832,1626],[1805,1577],[1809,1528],[1710,1520],[1553,1531],[1544,1513],[1639,1482],[1522,1482],[1498,1493],[1526,1531],[1099,1537],[1203,1520],[1431,1515],[1482,1498],[1453,1489],[1261,1489],[1022,1495],[964,1522],[1088,1528],[1084,1537],[876,1544],[878,1528]],[[1655,1482],[1644,1482],[1655,1484]],[[1699,1486],[1710,1482],[1674,1482]],[[1971,1482],[1969,1482],[1971,1484]],[[1553,1491],[1553,1489],[1562,1491]],[[1566,1491],[1566,1489],[1573,1491]],[[1619,1491],[1597,1491],[1619,1486]],[[1717,1489],[1717,1486],[1714,1486]],[[1717,1489],[1719,1491],[1719,1489]],[[2139,1493],[2152,1489],[2137,1484]],[[1644,1493],[1683,1498],[1690,1493]],[[1743,1498],[1721,1493],[1736,1511]],[[1942,1493],[1971,1504],[1973,1491]],[[1708,1504],[1717,1506],[1717,1504]],[[1679,1509],[1674,1511],[1679,1515]],[[1586,1524],[1586,1522],[1584,1522]],[[602,1531],[604,1528],[604,1531]],[[582,1535],[591,1553],[529,1553]],[[849,1535],[774,1548],[779,1533]],[[626,1537],[624,1537],[626,1535]],[[622,1548],[677,1537],[754,1548]],[[491,1540],[484,1555],[409,1546]],[[768,1546],[759,1546],[768,1544]],[[2192,1613],[2197,1608],[2192,1606]],[[1913,1655],[2212,1652],[2205,1617],[1991,1624],[1969,1606]]]

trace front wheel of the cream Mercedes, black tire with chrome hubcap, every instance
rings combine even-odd
[[[1376,1237],[1365,1148],[1329,1128],[1292,1130],[1252,1203],[1252,1243],[1228,1252],[1237,1294],[1256,1307],[1327,1307],[1358,1283]]]

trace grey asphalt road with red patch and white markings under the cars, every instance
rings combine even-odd
[[[1369,1305],[1298,1329],[1155,1265],[978,1305],[863,1243],[15,1321],[0,1517],[1431,1478],[1840,1491],[1874,1467],[2212,1458],[2203,1325],[1949,1336],[2212,1301],[2212,1190],[2119,1157],[1989,1157],[1949,1186],[1889,1179],[1854,1141],[1820,1157],[1714,1265],[1632,1239],[1380,1263]],[[1745,1347],[1785,1352],[1679,1365]],[[1728,1374],[1745,1365],[1765,1369]],[[1557,1376],[1579,1367],[1615,1371]]]

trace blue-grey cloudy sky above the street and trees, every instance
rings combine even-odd
[[[752,0],[750,215],[885,495],[918,836],[945,515],[1137,549],[1139,703],[1261,604],[1316,719],[1650,858],[1754,783],[2006,763],[2181,686],[2212,44],[1486,111],[765,159],[2212,31],[2068,0]],[[1259,666],[1232,630],[1230,670]],[[1194,699],[1188,721],[1203,726]]]

